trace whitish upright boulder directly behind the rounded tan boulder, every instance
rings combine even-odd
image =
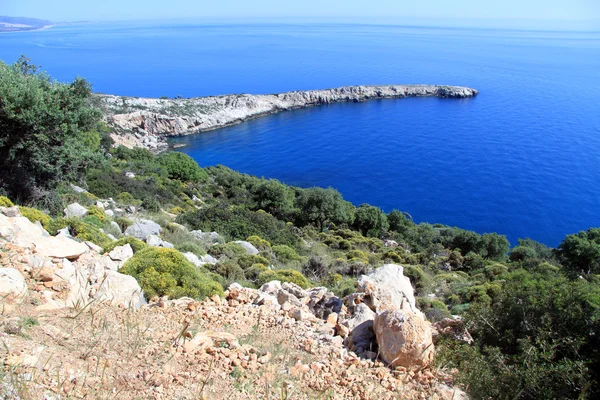
[[[409,310],[420,313],[410,279],[404,276],[404,268],[385,264],[368,275],[362,275],[357,283],[364,294],[364,302],[375,312],[385,310]]]

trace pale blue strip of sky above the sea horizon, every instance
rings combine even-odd
[[[600,0],[0,0],[0,15],[53,21],[312,18],[589,23],[600,21]]]

